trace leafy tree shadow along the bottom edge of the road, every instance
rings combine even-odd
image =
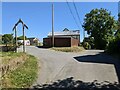
[[[120,90],[120,85],[104,81],[98,83],[97,80],[93,82],[83,82],[80,80],[73,80],[73,77],[58,80],[52,84],[35,85],[33,89],[37,90]]]

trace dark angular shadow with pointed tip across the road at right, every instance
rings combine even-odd
[[[115,66],[117,77],[120,83],[120,60],[116,60],[113,57],[106,55],[105,53],[99,53],[96,55],[77,56],[74,58],[78,62],[113,64]]]

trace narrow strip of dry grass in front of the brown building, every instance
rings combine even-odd
[[[52,50],[55,51],[62,51],[62,52],[81,52],[84,50],[83,47],[54,47],[51,48]]]

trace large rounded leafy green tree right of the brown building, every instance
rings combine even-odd
[[[116,21],[106,9],[93,9],[85,15],[83,27],[94,38],[97,49],[105,49],[113,38]]]

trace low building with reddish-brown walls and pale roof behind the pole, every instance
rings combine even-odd
[[[55,47],[72,47],[80,44],[80,31],[68,30],[65,28],[62,32],[54,32]],[[48,37],[43,38],[44,47],[52,47],[52,33]]]

